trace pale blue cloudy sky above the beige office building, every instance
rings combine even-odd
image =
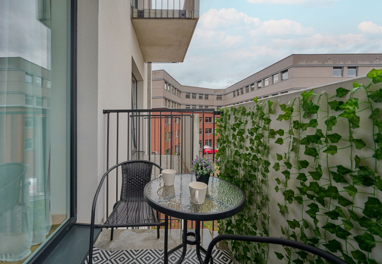
[[[201,0],[182,85],[225,88],[291,54],[382,53],[382,0]]]

